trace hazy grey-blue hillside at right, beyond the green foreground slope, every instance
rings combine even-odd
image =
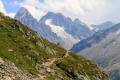
[[[120,24],[95,33],[71,50],[101,65],[113,80],[120,80]]]

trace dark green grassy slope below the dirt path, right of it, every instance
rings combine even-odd
[[[104,80],[108,77],[103,71],[101,71],[100,67],[98,68],[98,65],[73,52],[70,52],[70,55],[67,58],[59,60],[56,65],[62,69],[68,77],[73,79],[81,77],[81,79],[84,80],[85,78],[83,76],[88,76],[88,79],[90,80],[97,80],[98,78]],[[100,77],[98,74],[103,76]]]

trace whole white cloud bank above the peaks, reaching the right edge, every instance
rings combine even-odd
[[[17,3],[17,2],[16,2]],[[117,5],[116,5],[117,4]],[[43,3],[39,0],[24,0],[17,3],[21,7],[26,7],[31,14],[39,20],[46,11],[60,12],[67,17],[80,18],[85,23],[101,23],[107,20],[113,20],[111,15],[116,14],[119,9],[119,0],[45,0]],[[42,10],[41,10],[42,9]],[[113,12],[115,11],[115,12]],[[117,16],[119,16],[117,14]],[[109,18],[110,17],[110,18]],[[115,17],[115,19],[118,18]]]

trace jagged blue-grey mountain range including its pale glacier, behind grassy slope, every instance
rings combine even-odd
[[[79,19],[72,21],[61,13],[48,12],[37,21],[26,8],[22,7],[15,15],[15,19],[37,31],[43,38],[60,43],[66,49],[70,49],[73,44],[94,33]]]

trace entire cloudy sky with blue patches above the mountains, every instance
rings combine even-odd
[[[120,22],[120,0],[0,0],[0,11],[14,17],[20,7],[26,7],[39,20],[48,11],[62,13],[73,20],[100,24]]]

